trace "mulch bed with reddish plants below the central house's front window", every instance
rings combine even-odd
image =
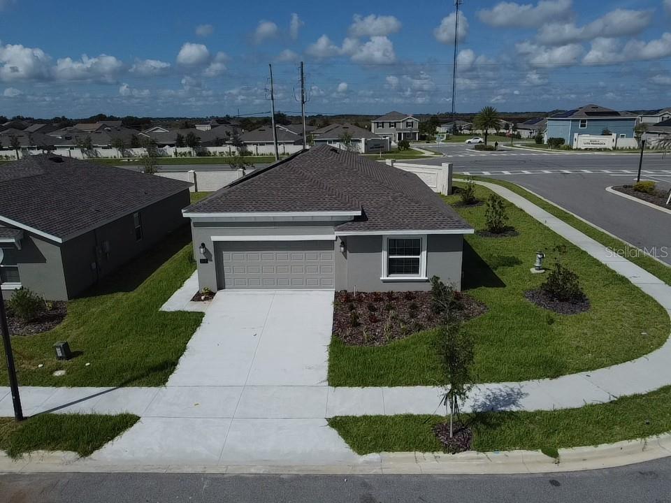
[[[460,292],[456,295],[461,303],[456,312],[459,319],[466,321],[487,311],[482,302]],[[430,291],[335,294],[333,334],[350,346],[383,346],[438,325],[440,316],[431,309]]]

